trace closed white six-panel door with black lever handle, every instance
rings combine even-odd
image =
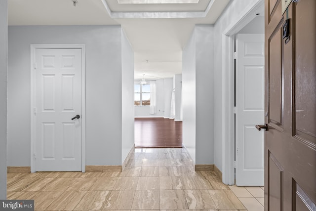
[[[35,67],[36,171],[81,171],[81,49],[36,49]]]

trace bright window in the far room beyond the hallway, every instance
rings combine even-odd
[[[134,105],[150,106],[150,84],[134,84]]]

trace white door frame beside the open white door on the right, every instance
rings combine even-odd
[[[256,17],[264,0],[253,0],[239,18],[222,33],[222,175],[223,183],[235,184],[234,172],[234,36]]]

